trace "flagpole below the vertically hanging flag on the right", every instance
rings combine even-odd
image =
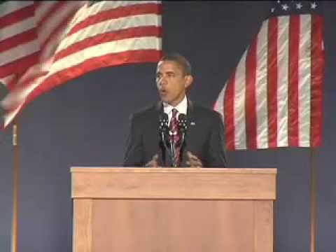
[[[314,148],[310,148],[310,252],[316,251],[316,160]]]

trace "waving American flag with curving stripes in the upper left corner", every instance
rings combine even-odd
[[[31,100],[88,71],[158,62],[160,1],[3,1],[0,83],[6,127]]]

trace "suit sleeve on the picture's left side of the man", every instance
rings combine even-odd
[[[140,121],[136,116],[130,118],[130,134],[127,138],[124,167],[144,166],[144,148],[140,131]]]

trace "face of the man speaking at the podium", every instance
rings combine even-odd
[[[186,76],[179,64],[166,60],[159,62],[156,69],[156,85],[162,102],[176,106],[186,94],[186,88],[193,82],[192,76]]]

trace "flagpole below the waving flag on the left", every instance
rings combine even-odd
[[[13,149],[14,149],[14,168],[13,168],[13,216],[12,216],[12,244],[11,252],[18,251],[18,182],[19,182],[19,128],[17,120],[13,124]]]

